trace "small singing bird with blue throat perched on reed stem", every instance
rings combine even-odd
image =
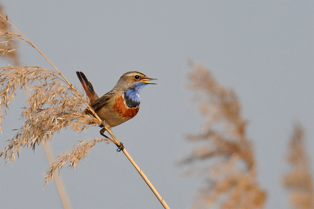
[[[76,71],[76,75],[86,91],[91,107],[98,117],[105,121],[111,128],[130,120],[138,113],[140,91],[147,84],[156,84],[148,81],[157,80],[149,78],[143,73],[130,71],[120,77],[116,86],[111,91],[102,97],[98,97],[84,73]],[[105,131],[102,130],[100,130],[101,135]]]

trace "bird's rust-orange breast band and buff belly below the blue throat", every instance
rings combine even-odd
[[[118,95],[112,107],[105,106],[96,111],[100,119],[105,120],[110,127],[120,125],[133,118],[139,110],[138,107],[129,108],[124,102],[123,95]]]

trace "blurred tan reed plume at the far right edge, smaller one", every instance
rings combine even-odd
[[[289,147],[287,161],[292,170],[282,180],[283,185],[290,190],[290,204],[295,208],[314,208],[313,178],[304,148],[303,129],[299,124],[294,127]]]

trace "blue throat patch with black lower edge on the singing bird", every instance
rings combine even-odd
[[[147,83],[135,82],[133,83],[133,88],[128,88],[126,91],[124,91],[124,99],[127,107],[134,108],[139,106],[141,102],[139,98],[139,92],[146,85]]]

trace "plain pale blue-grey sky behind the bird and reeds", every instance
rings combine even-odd
[[[141,92],[132,120],[113,129],[171,208],[191,206],[203,184],[183,178],[175,165],[199,133],[203,118],[188,102],[187,57],[212,69],[232,88],[249,121],[258,179],[267,208],[287,208],[280,186],[294,120],[305,129],[314,157],[313,1],[3,1],[9,20],[76,86],[83,71],[102,95],[127,71],[158,78]],[[23,65],[51,66],[31,47],[19,48]],[[0,60],[1,66],[8,63]],[[3,121],[0,149],[19,128],[23,92]],[[22,110],[21,110],[22,111]],[[76,140],[99,137],[99,128],[55,135],[59,155]],[[61,176],[73,208],[161,208],[137,171],[114,145],[97,144],[76,170]],[[22,149],[13,165],[0,159],[0,208],[60,208],[54,183],[43,188],[49,168],[42,147]],[[313,169],[313,166],[312,166]]]

